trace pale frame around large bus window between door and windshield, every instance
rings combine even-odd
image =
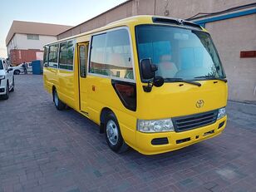
[[[131,65],[132,65],[132,71],[133,71],[133,76],[134,79],[126,79],[126,78],[121,78],[121,77],[116,77],[116,76],[106,76],[106,75],[101,75],[101,74],[96,74],[96,73],[91,73],[90,72],[90,63],[91,63],[91,46],[92,46],[92,38],[94,36],[97,35],[101,35],[107,32],[114,32],[120,29],[126,29],[126,31],[128,32],[128,36],[129,36],[129,42],[130,42],[130,57],[131,57]],[[136,76],[135,76],[135,58],[134,58],[134,52],[133,52],[133,42],[132,42],[132,38],[131,38],[131,34],[130,34],[130,27],[128,26],[124,26],[124,27],[114,27],[111,29],[107,29],[101,32],[96,32],[91,34],[90,37],[90,43],[89,43],[89,57],[88,57],[88,61],[87,61],[87,75],[90,76],[99,76],[99,77],[103,77],[103,78],[107,78],[107,79],[112,79],[112,80],[118,80],[118,81],[127,81],[127,82],[136,82]]]

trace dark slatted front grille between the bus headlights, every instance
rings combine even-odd
[[[218,110],[199,113],[191,116],[172,118],[175,131],[185,131],[213,124],[217,120]]]

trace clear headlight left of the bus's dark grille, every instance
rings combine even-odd
[[[174,125],[171,119],[165,120],[138,120],[137,130],[145,133],[157,133],[174,131]]]

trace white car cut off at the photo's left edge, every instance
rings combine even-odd
[[[0,58],[0,96],[9,98],[9,91],[14,91],[13,69],[7,67],[7,61]]]

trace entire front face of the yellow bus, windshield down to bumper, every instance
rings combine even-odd
[[[140,79],[148,83],[137,102],[136,141],[145,154],[219,135],[227,119],[226,76],[209,33],[191,22],[152,20],[135,27]]]

